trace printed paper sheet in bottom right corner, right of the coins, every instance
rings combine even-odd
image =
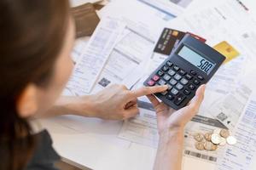
[[[256,96],[247,103],[233,135],[235,145],[228,145],[218,160],[218,170],[255,169],[256,161]]]

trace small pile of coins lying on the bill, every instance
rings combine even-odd
[[[236,144],[236,138],[230,136],[230,131],[227,129],[215,129],[212,133],[195,133],[195,148],[196,150],[217,150],[218,146],[225,144]]]

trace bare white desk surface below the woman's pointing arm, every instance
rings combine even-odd
[[[117,137],[122,122],[81,116],[59,116],[40,120],[49,130],[55,150],[73,166],[94,170],[150,170],[154,148]],[[200,165],[200,166],[199,166]],[[214,165],[183,157],[183,169],[213,170]]]

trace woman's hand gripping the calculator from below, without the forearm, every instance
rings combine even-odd
[[[157,122],[159,133],[166,130],[183,130],[183,127],[198,112],[201,102],[204,98],[205,85],[201,85],[197,89],[195,97],[190,101],[189,105],[175,111],[164,103],[160,102],[154,95],[148,95],[148,99],[154,105],[157,114]]]

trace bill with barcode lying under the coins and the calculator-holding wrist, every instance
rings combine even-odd
[[[159,134],[154,108],[143,101],[139,101],[139,107],[140,114],[124,122],[119,132],[119,138],[157,148]],[[183,156],[215,164],[218,160],[218,152],[223,147],[219,146],[218,150],[215,151],[196,150],[193,134],[209,133],[216,128],[226,127],[216,119],[207,116],[195,116],[185,127]]]

